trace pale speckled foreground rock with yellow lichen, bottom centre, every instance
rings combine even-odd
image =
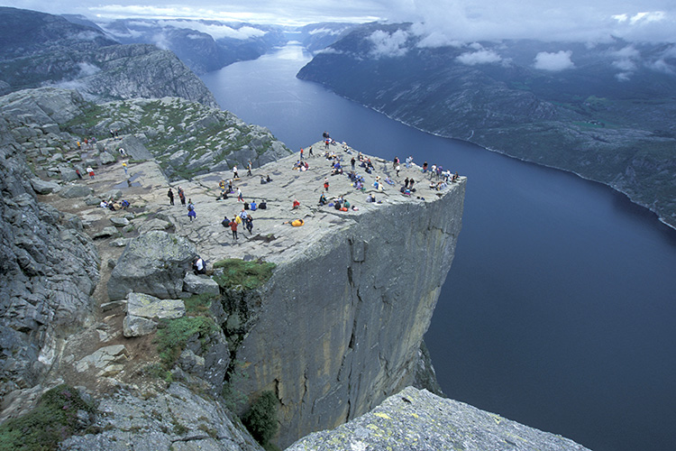
[[[369,449],[466,451],[585,451],[568,438],[543,432],[408,387],[374,410],[330,431],[298,440],[287,451],[352,451]]]

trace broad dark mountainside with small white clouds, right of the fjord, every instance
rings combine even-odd
[[[298,78],[406,124],[571,170],[676,226],[676,45],[435,40],[370,23]]]

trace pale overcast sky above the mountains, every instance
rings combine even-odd
[[[676,41],[676,0],[0,0],[90,18],[200,18],[251,23],[422,22],[440,41],[535,38]]]

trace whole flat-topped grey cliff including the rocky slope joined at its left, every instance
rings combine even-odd
[[[141,129],[125,133],[146,106],[155,124],[140,120]],[[100,107],[54,88],[0,97],[3,419],[67,382],[96,409],[78,412],[76,436],[62,449],[253,451],[260,447],[230,410],[244,412],[263,391],[272,391],[279,410],[274,441],[286,446],[355,419],[414,380],[460,233],[466,179],[431,189],[420,168],[397,176],[391,162],[370,157],[373,173],[357,170],[361,191],[345,175],[330,175],[324,146],[315,143],[309,170],[292,169],[296,155],[261,161],[251,176],[240,168],[235,186],[267,208],[249,210],[254,228],[240,228],[234,240],[221,220],[242,211],[242,202],[233,193],[222,198],[217,185],[232,171],[169,182],[148,149],[166,139],[192,143],[197,138],[186,135],[205,129],[218,134],[239,124],[235,118],[203,115],[203,106],[175,98]],[[179,112],[182,125],[174,127],[170,116]],[[217,125],[221,119],[232,124]],[[122,133],[109,137],[115,121]],[[97,143],[78,145],[66,131],[78,127],[101,133]],[[146,155],[124,160],[128,174],[111,153],[122,143]],[[328,152],[343,165],[357,155],[338,145]],[[78,179],[82,165],[96,176]],[[265,176],[271,181],[260,183]],[[376,189],[377,177],[394,185]],[[413,196],[399,192],[404,178],[416,179]],[[357,208],[317,205],[324,179],[330,199],[343,196]],[[178,198],[169,204],[168,188],[179,185],[196,219]],[[371,194],[378,202],[367,201]],[[131,205],[98,207],[109,199]],[[294,199],[300,206],[291,209]],[[304,225],[290,226],[295,218]],[[196,253],[213,277],[184,277]],[[247,263],[269,275],[230,275]]]

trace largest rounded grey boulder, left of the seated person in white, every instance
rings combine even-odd
[[[133,291],[177,299],[195,255],[195,246],[186,238],[160,231],[139,235],[127,244],[115,265],[108,281],[108,297],[124,299]]]

